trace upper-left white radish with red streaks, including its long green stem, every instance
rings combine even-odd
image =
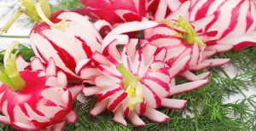
[[[80,60],[90,59],[101,48],[102,37],[92,23],[84,16],[61,10],[51,13],[48,0],[23,0],[17,13],[2,31],[8,31],[20,14],[36,20],[29,39],[35,54],[44,62],[53,58],[58,67],[71,76],[69,82],[80,82],[75,68]]]

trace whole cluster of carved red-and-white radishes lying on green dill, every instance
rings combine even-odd
[[[51,14],[47,0],[22,0],[2,29],[20,14],[38,21],[30,34],[37,57],[27,64],[15,60],[13,48],[5,54],[0,122],[21,130],[61,129],[75,122],[72,105],[80,92],[98,100],[91,116],[108,110],[123,125],[127,118],[143,126],[141,116],[166,122],[170,118],[157,108],[182,109],[187,101],[170,97],[209,83],[211,72],[192,71],[230,61],[210,59],[213,54],[256,45],[252,0],[80,1],[87,9],[77,12],[87,16],[67,10]],[[102,38],[104,26],[113,30]],[[143,38],[134,37],[138,31]],[[177,76],[190,82],[176,85]],[[82,83],[93,86],[82,89]]]

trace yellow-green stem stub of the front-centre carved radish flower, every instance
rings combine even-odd
[[[123,88],[125,93],[128,94],[129,108],[132,111],[134,110],[134,105],[143,102],[143,85],[140,83],[139,78],[132,74],[125,65],[119,64],[116,69],[123,76]]]

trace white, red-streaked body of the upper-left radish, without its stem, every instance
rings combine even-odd
[[[52,21],[66,19],[66,31],[60,31],[47,23],[38,23],[32,29],[32,48],[42,60],[54,58],[56,65],[75,75],[79,60],[90,58],[101,48],[102,37],[90,21],[69,11],[61,11],[51,17]],[[47,49],[46,49],[47,48]]]

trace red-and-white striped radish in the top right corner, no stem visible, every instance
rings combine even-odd
[[[256,46],[256,4],[253,0],[162,1],[164,8],[157,9],[161,14],[156,14],[154,19],[177,20],[183,16],[195,26],[195,31],[201,32],[206,50],[224,52]]]

